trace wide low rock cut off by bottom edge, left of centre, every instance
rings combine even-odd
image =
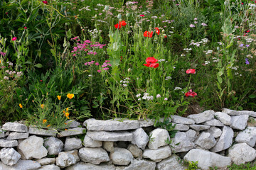
[[[78,164],[69,166],[65,170],[114,170],[115,166],[114,165],[105,165],[105,164],[100,164],[100,165],[95,165],[95,164],[90,164],[90,163],[84,163],[84,162],[78,162]]]

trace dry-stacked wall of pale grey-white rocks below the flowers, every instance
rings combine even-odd
[[[198,161],[201,169],[225,169],[255,159],[255,118],[256,112],[225,108],[188,118],[172,115],[178,130],[172,139],[153,120],[73,120],[59,132],[5,123],[0,170],[184,170],[181,159]]]

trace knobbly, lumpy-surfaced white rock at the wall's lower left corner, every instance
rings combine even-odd
[[[6,165],[13,166],[21,158],[21,154],[16,152],[14,148],[3,148],[0,152],[0,159]]]

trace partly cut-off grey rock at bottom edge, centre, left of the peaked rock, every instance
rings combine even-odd
[[[155,170],[156,162],[134,159],[124,170]]]

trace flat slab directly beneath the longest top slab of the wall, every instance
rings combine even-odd
[[[106,131],[88,131],[86,133],[92,140],[100,141],[132,141],[132,133],[127,131],[106,132]]]

